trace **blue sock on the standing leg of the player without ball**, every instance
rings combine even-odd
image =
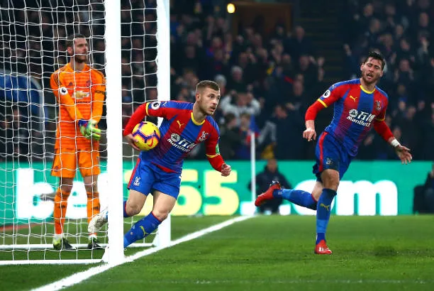
[[[321,197],[318,199],[316,210],[316,243],[325,240],[328,220],[330,219],[331,203],[336,196],[336,191],[324,188]]]

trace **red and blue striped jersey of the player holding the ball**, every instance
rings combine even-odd
[[[142,151],[140,158],[148,160],[167,172],[182,172],[184,158],[204,142],[206,156],[216,170],[221,170],[223,159],[218,151],[220,131],[211,116],[201,123],[194,120],[193,104],[180,101],[154,101],[145,103],[134,112],[123,131],[126,136],[145,115],[162,117],[160,143],[152,150]],[[214,158],[218,163],[213,163]]]

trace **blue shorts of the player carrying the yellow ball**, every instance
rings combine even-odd
[[[181,186],[181,175],[177,172],[165,172],[146,160],[138,158],[135,168],[131,173],[129,190],[135,190],[145,195],[153,190],[160,191],[169,196],[178,198]]]

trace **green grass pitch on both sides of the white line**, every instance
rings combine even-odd
[[[225,219],[175,216],[174,238]],[[433,223],[434,216],[332,216],[334,253],[316,256],[314,216],[260,216],[67,290],[432,290]],[[0,267],[0,289],[26,290],[87,268]]]

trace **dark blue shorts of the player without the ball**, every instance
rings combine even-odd
[[[333,169],[339,172],[341,180],[350,166],[352,156],[345,148],[327,131],[321,133],[316,143],[316,164],[313,165],[313,174],[318,181],[321,181],[321,172],[326,169]]]

